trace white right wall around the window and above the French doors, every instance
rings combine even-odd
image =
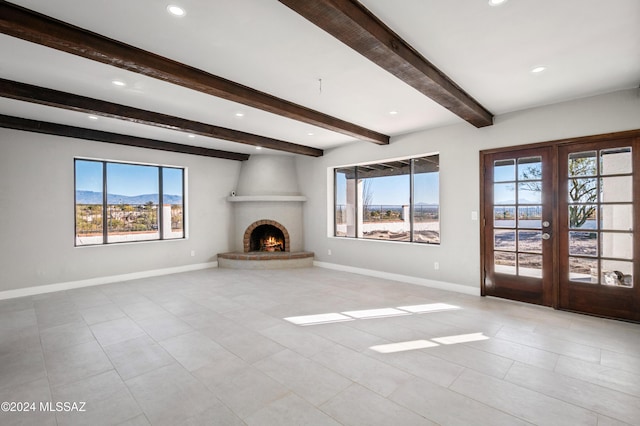
[[[300,188],[308,198],[305,248],[320,262],[479,288],[480,225],[471,220],[480,206],[479,151],[638,128],[640,93],[634,89],[505,114],[483,129],[462,123],[394,137],[388,146],[356,142],[318,159],[298,157]],[[329,169],[432,152],[440,153],[440,246],[328,236]]]

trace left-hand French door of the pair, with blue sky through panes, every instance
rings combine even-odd
[[[484,293],[550,306],[552,150],[506,151],[484,159]]]

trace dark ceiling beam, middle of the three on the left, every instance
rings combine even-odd
[[[0,78],[0,96],[163,129],[320,157],[321,149]]]

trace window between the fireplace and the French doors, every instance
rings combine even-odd
[[[439,155],[334,169],[336,237],[440,243]]]

